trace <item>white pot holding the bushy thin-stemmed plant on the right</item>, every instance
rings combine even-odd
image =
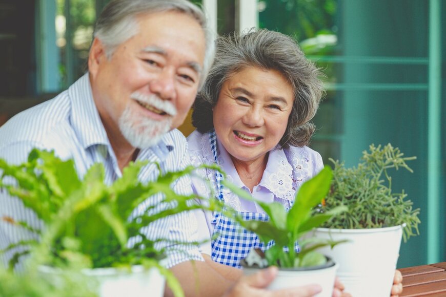
[[[312,232],[317,238],[349,241],[333,249],[319,249],[339,264],[337,275],[346,286],[346,292],[360,297],[388,297],[399,257],[402,228],[316,228]]]

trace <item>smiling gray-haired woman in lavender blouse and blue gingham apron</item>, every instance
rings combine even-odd
[[[278,202],[288,209],[301,184],[323,167],[319,153],[307,146],[315,129],[310,120],[323,95],[321,73],[292,38],[278,32],[219,37],[216,49],[214,65],[194,104],[192,122],[197,130],[188,137],[192,163],[216,163],[256,200]],[[198,194],[216,193],[216,199],[245,220],[268,220],[257,203],[239,199],[223,187],[219,173],[203,169],[200,174],[214,188],[195,179]],[[250,249],[268,248],[252,232],[240,235],[220,213],[197,212],[197,219],[201,238],[212,238],[203,252],[215,262],[239,267]],[[399,293],[400,282],[393,293]]]

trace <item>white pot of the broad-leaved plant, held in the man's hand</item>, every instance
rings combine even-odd
[[[318,284],[322,291],[318,297],[332,297],[333,287],[338,264],[329,261],[329,265],[306,268],[279,268],[277,277],[268,286],[268,289],[278,290],[292,287]],[[245,275],[259,271],[259,268],[244,268]]]

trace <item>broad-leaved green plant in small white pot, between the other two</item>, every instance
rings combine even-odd
[[[316,251],[321,246],[334,246],[341,241],[302,239],[307,232],[341,213],[345,207],[339,206],[323,214],[311,215],[311,210],[327,195],[332,179],[332,171],[326,166],[322,171],[303,183],[300,187],[294,205],[287,210],[280,203],[264,203],[256,201],[269,216],[269,221],[243,221],[240,225],[255,232],[265,246],[274,240],[275,244],[265,251],[265,260],[255,265],[251,264],[251,252],[248,258],[242,260],[245,273],[254,273],[256,269],[274,265],[279,267],[277,278],[269,288],[279,289],[318,283],[322,287],[319,296],[331,296],[338,265],[330,258]],[[224,182],[235,194],[244,199],[253,198],[244,190]],[[294,246],[299,243],[300,252],[296,253]],[[287,247],[284,249],[284,247]],[[245,263],[243,263],[245,262]]]

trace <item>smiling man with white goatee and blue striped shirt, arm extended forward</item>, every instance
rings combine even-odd
[[[188,1],[112,1],[97,20],[88,73],[67,91],[2,126],[0,158],[21,163],[33,147],[54,150],[59,157],[72,158],[81,176],[102,162],[107,182],[120,177],[135,160],[158,161],[163,171],[184,168],[186,140],[175,128],[184,121],[212,60],[213,40],[205,17]],[[140,177],[149,181],[157,175],[146,167]],[[177,184],[176,190],[186,193],[189,187]],[[0,194],[2,216],[42,227],[21,202],[5,194]],[[0,249],[23,239],[8,228],[0,222]],[[194,239],[195,232],[193,217],[180,214],[152,223],[147,236],[185,241]],[[294,292],[261,289],[274,278],[274,268],[235,282],[239,271],[225,275],[203,261],[198,249],[184,249],[169,253],[168,266],[186,294],[196,293],[193,269],[200,295],[310,296],[319,290],[317,286]]]

